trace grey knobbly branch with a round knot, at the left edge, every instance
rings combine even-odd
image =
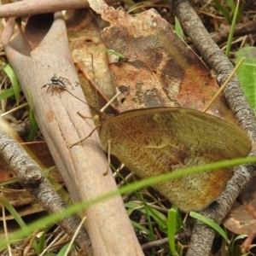
[[[49,181],[44,177],[41,168],[26,154],[26,151],[14,139],[0,131],[0,148],[5,160],[24,188],[38,201],[46,212],[51,214],[62,212],[67,208],[67,203],[55,191]],[[78,216],[68,216],[59,224],[70,236],[73,236],[79,226]],[[76,238],[79,247],[83,248],[86,255],[91,255],[90,239],[84,229],[79,231]]]

